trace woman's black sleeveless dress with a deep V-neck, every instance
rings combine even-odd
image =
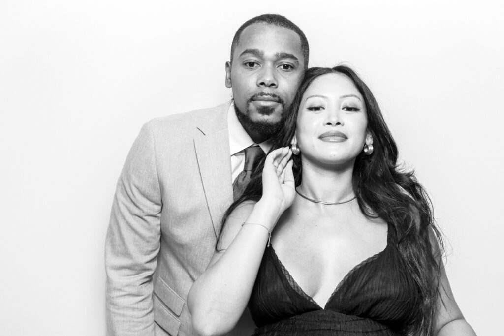
[[[387,247],[355,266],[324,308],[296,284],[273,246],[267,247],[248,303],[255,335],[405,335],[418,313],[418,287],[396,242],[389,225]]]

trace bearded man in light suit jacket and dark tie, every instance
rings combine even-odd
[[[119,177],[107,232],[109,334],[194,334],[187,292],[210,261],[233,192],[238,197],[247,182],[250,146],[269,149],[307,63],[308,43],[296,25],[279,15],[250,19],[226,62],[233,101],[144,125]]]

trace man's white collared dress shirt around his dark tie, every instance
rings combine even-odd
[[[233,102],[231,102],[227,113],[227,125],[229,130],[231,175],[234,181],[236,176],[238,176],[238,174],[243,170],[243,166],[245,164],[245,148],[259,145],[265,153],[268,153],[271,148],[271,142],[267,140],[261,144],[256,144],[252,139],[250,139],[250,136],[236,116]]]

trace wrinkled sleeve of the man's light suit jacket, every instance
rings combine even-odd
[[[153,335],[152,275],[161,235],[161,190],[149,123],[117,182],[105,242],[109,335]]]

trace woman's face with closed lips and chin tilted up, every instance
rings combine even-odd
[[[366,107],[353,82],[341,74],[313,80],[301,99],[296,124],[303,162],[353,167],[366,136]]]

